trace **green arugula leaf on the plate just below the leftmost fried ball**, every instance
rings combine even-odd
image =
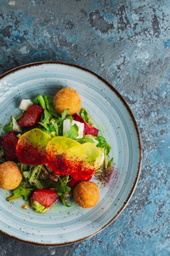
[[[28,201],[33,190],[34,189],[27,189],[24,183],[21,182],[19,187],[13,190],[13,195],[9,196],[6,200],[12,201],[22,196],[25,201]]]

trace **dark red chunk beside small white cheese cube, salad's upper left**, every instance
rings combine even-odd
[[[42,117],[43,108],[39,105],[32,104],[30,108],[26,111],[26,113],[21,116],[20,120],[18,121],[18,125],[20,127],[29,127],[37,125],[40,122]]]

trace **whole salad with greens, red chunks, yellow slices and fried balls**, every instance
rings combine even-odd
[[[95,207],[98,185],[90,179],[107,172],[111,146],[99,134],[76,90],[65,87],[54,96],[20,102],[0,150],[0,188],[7,201],[22,197],[35,212],[47,212],[57,201],[71,207]]]

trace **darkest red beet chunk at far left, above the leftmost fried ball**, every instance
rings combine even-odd
[[[6,160],[14,160],[16,158],[16,146],[19,138],[11,131],[3,137],[3,151]]]

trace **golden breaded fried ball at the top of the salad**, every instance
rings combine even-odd
[[[65,87],[54,96],[54,107],[57,113],[61,114],[66,108],[69,113],[77,113],[82,105],[82,100],[76,90]]]

